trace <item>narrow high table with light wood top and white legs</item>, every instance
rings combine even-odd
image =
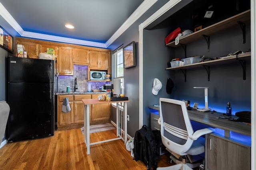
[[[122,139],[124,141],[124,145],[126,145],[126,142],[127,142],[127,102],[130,102],[130,100],[107,102],[107,101],[99,101],[98,99],[82,99],[82,102],[84,103],[84,143],[86,144],[86,147],[87,147],[87,154],[90,154],[90,145],[95,145],[98,143],[104,143],[104,142]],[[119,108],[118,108],[119,102],[124,102],[124,131],[123,131],[124,138],[122,138],[122,131],[120,131],[120,133],[118,132],[119,126],[121,126],[118,122],[119,121]],[[116,103],[116,138],[90,143],[90,104],[106,104],[106,103]],[[120,127],[120,129],[121,129],[121,127]]]

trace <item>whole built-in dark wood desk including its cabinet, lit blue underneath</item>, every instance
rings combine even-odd
[[[160,110],[154,106],[149,108]],[[250,170],[251,125],[219,118],[222,113],[212,111],[192,109],[188,110],[188,115],[192,121],[216,127],[215,132],[205,137],[206,170]]]

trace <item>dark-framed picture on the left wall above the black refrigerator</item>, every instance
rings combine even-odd
[[[13,53],[12,50],[13,37],[0,26],[0,47]]]

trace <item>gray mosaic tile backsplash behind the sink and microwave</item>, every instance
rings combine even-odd
[[[74,64],[73,76],[58,76],[57,81],[55,81],[55,92],[66,92],[67,86],[70,86],[70,92],[74,92],[75,78],[77,79],[78,92],[88,92],[89,84],[91,88],[95,89],[110,83],[88,81],[88,65]]]

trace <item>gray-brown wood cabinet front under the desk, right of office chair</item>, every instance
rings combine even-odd
[[[218,135],[206,135],[207,170],[250,170],[250,147]]]

